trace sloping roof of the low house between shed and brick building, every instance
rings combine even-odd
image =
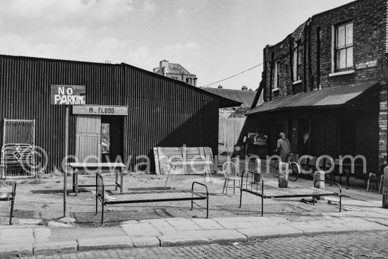
[[[223,88],[201,88],[207,92],[211,92],[214,95],[219,95],[226,99],[241,102],[241,107],[250,107],[255,99],[256,91],[248,90],[234,90],[234,89],[223,89]]]

